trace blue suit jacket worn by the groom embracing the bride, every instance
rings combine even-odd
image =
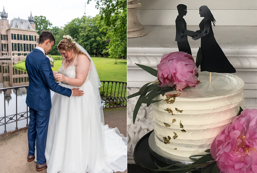
[[[52,107],[50,89],[56,93],[70,97],[72,90],[55,82],[49,59],[39,49],[33,49],[25,61],[29,76],[29,88],[26,104],[30,108],[49,110]]]

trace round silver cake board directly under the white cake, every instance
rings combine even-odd
[[[177,164],[176,166],[178,167],[182,167],[191,163],[194,163],[196,161],[196,159],[200,158],[200,157],[194,157],[195,159],[192,159],[190,157],[181,157],[181,156],[176,156],[173,154],[170,154],[164,150],[162,150],[161,148],[159,148],[156,145],[155,139],[154,139],[154,131],[151,133],[151,135],[149,136],[149,149],[151,154],[158,160],[167,163],[169,165],[174,165]]]

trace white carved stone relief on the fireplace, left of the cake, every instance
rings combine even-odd
[[[139,91],[140,88],[127,88],[127,94],[131,95]],[[153,119],[152,119],[152,107],[142,104],[135,124],[133,124],[133,111],[138,100],[138,97],[133,97],[128,99],[127,104],[127,155],[128,157],[133,156],[134,148],[136,143],[140,138],[142,138],[146,133],[153,130]]]

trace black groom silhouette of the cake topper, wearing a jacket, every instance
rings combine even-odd
[[[176,22],[176,39],[178,44],[179,51],[186,52],[192,55],[190,45],[187,40],[187,35],[193,37],[194,35],[198,35],[197,32],[187,30],[187,23],[183,16],[187,14],[187,6],[184,4],[179,4],[177,6],[179,15],[177,16]]]

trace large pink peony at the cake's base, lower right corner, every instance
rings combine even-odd
[[[257,109],[245,109],[211,144],[211,156],[222,173],[257,172]]]

